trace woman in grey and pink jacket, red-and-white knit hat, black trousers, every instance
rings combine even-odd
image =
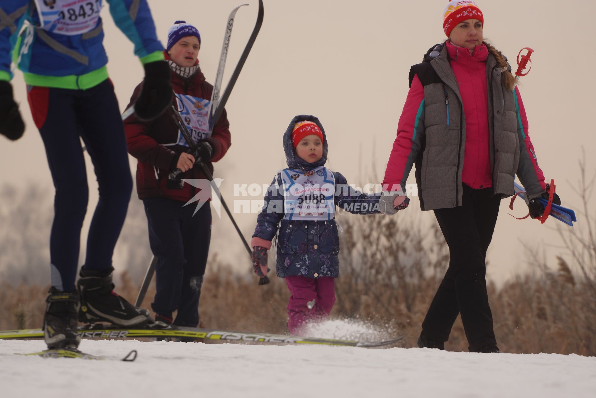
[[[484,18],[473,1],[452,0],[443,13],[448,40],[412,67],[410,89],[387,163],[381,201],[403,195],[416,165],[422,210],[434,210],[451,254],[422,324],[418,346],[444,349],[458,314],[469,350],[499,352],[486,293],[486,250],[502,198],[517,174],[530,214],[544,209],[542,170],[526,111],[507,59],[483,41]]]

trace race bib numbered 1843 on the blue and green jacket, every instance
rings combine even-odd
[[[97,26],[103,0],[35,0],[41,28],[60,35],[82,35]]]

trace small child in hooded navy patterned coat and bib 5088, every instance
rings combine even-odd
[[[327,138],[316,117],[294,117],[283,144],[288,168],[275,175],[266,192],[250,245],[254,272],[264,278],[269,271],[267,250],[277,232],[277,276],[285,279],[291,293],[288,329],[298,334],[307,321],[327,318],[335,303],[334,278],[339,276],[335,207],[354,214],[378,214],[384,209],[378,206],[379,195],[350,188],[343,175],[324,166]],[[408,203],[401,197],[395,208],[405,209]]]

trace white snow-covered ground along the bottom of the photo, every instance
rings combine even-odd
[[[91,341],[103,361],[17,356],[43,341],[0,340],[2,397],[594,397],[596,357]],[[137,350],[135,362],[120,357]],[[114,359],[114,360],[111,360]]]

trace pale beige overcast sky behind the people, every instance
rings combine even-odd
[[[240,8],[236,15],[224,85],[256,19],[257,1],[249,1],[250,6]],[[590,71],[596,62],[592,43],[596,37],[596,5],[584,0],[566,1],[563,8],[554,0],[477,3],[485,15],[485,38],[507,55],[514,69],[520,49],[529,46],[535,50],[533,69],[520,86],[529,135],[545,176],[555,179],[563,205],[577,211],[580,202],[572,185],[577,185],[579,178],[582,146],[589,174],[596,169],[592,156],[596,144],[592,120],[596,76]],[[201,69],[213,83],[226,18],[241,1],[150,0],[149,4],[162,43],[175,20],[197,26]],[[313,114],[321,120],[329,142],[330,169],[359,186],[380,182],[370,176],[383,178],[408,92],[409,68],[421,61],[430,46],[446,38],[442,31],[445,4],[446,0],[265,0],[262,29],[226,105],[232,147],[215,164],[215,176],[224,178],[221,191],[226,201],[232,203],[234,199],[234,184],[269,184],[275,172],[286,167],[281,136],[297,114]],[[108,10],[101,15],[104,46],[110,58],[108,71],[124,110],[142,79],[142,67],[132,54],[132,43],[114,26]],[[33,124],[19,71],[13,85],[27,130],[18,142],[0,138],[0,184],[33,181],[52,188],[44,146]],[[133,175],[135,169],[136,160],[131,157]],[[415,182],[414,169],[408,182]],[[82,251],[97,202],[96,184],[91,171]],[[53,197],[53,189],[48,196]],[[554,226],[566,228],[555,220],[545,225],[515,220],[507,215],[508,204],[509,200],[502,201],[488,253],[488,275],[495,281],[524,269],[520,241],[530,247],[540,242],[555,244],[558,235]],[[593,208],[594,198],[591,204]],[[516,214],[523,215],[525,210],[522,201],[517,202]],[[418,213],[418,201],[412,200],[396,217],[417,217]],[[432,212],[425,213],[424,217],[433,217]],[[249,240],[256,214],[235,217]],[[585,223],[580,214],[578,219]],[[213,220],[210,254],[214,253],[243,269],[250,266],[225,214],[221,220],[216,216]]]

